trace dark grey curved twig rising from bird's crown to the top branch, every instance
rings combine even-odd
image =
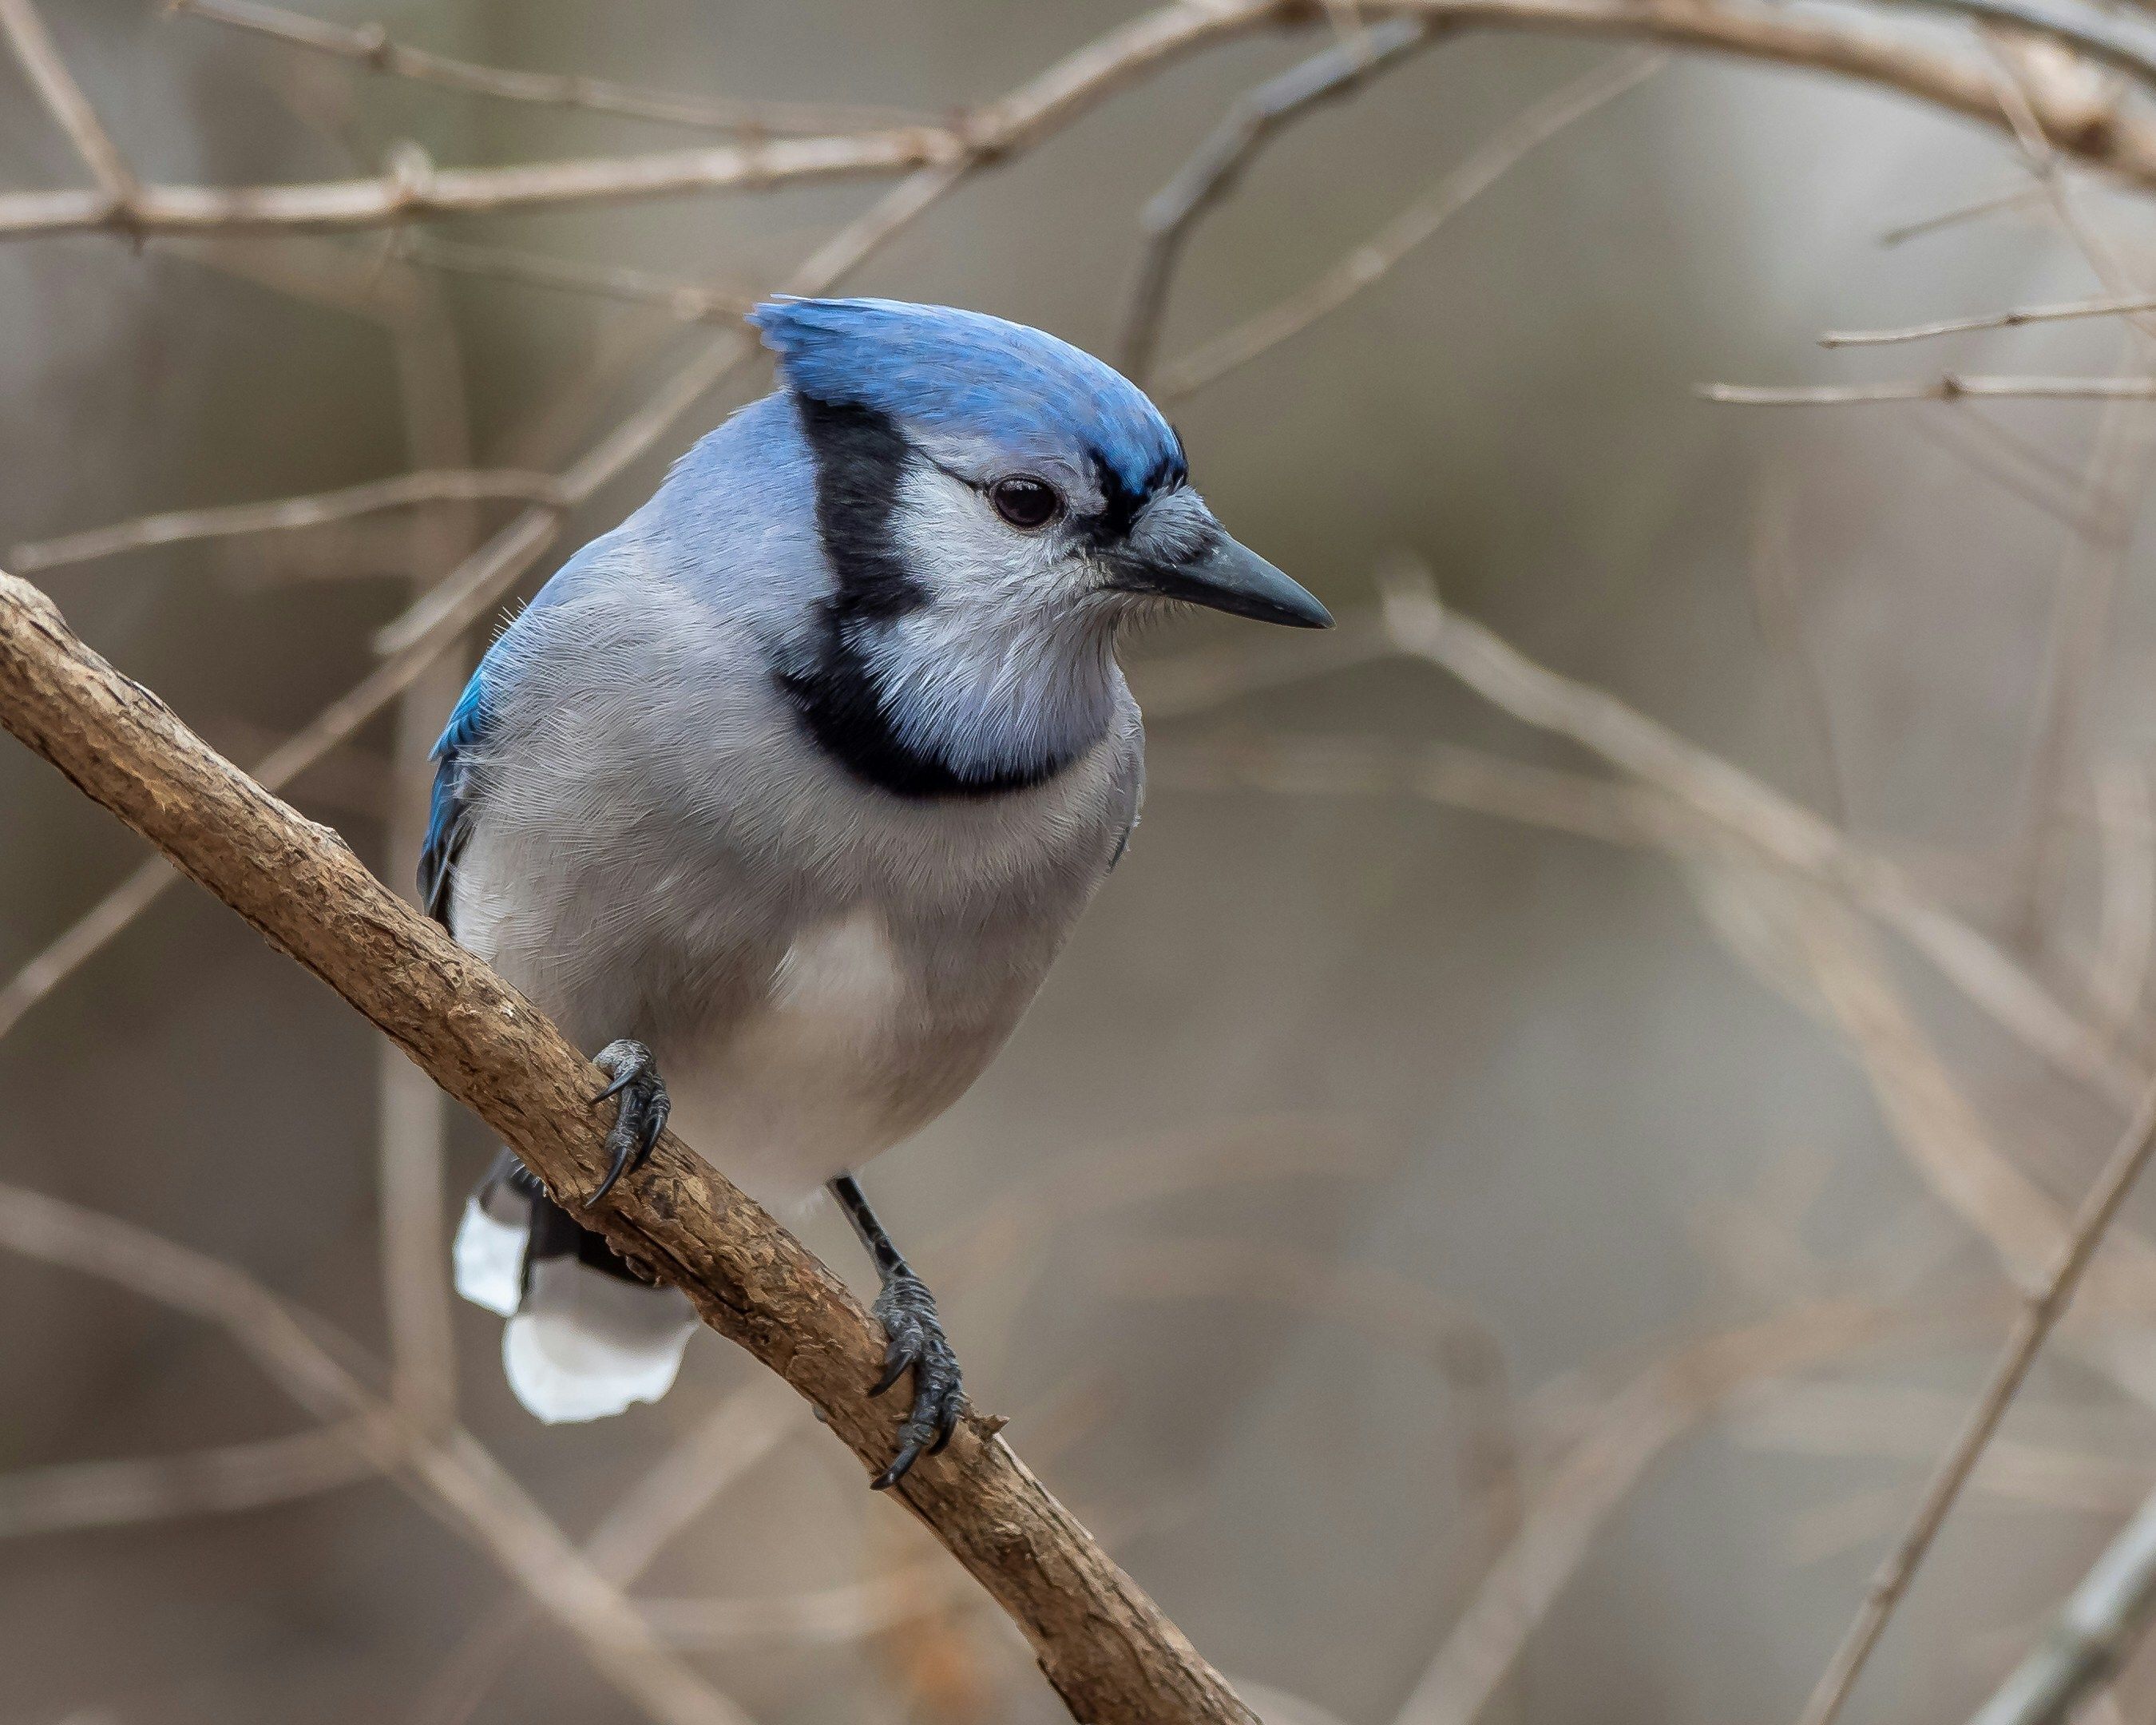
[[[1395,17],[1371,30],[1358,30],[1235,97],[1220,125],[1138,211],[1145,250],[1123,308],[1123,332],[1115,345],[1130,377],[1143,384],[1153,369],[1169,287],[1192,231],[1205,211],[1235,190],[1259,151],[1296,119],[1354,95],[1432,41],[1436,30],[1425,19]]]

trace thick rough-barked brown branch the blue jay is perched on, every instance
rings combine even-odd
[[[0,724],[157,843],[479,1113],[608,1242],[808,1397],[869,1471],[899,1410],[867,1395],[882,1337],[793,1236],[675,1138],[584,1210],[606,1171],[599,1072],[528,1000],[377,882],[326,828],[213,755],[0,576]],[[1024,1630],[1082,1721],[1255,1725],[1091,1535],[970,1414],[899,1496]]]

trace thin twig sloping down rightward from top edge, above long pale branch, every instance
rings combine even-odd
[[[511,71],[455,60],[425,47],[395,41],[379,24],[332,24],[261,0],[166,0],[172,17],[231,24],[291,47],[351,60],[386,78],[410,78],[502,101],[537,101],[548,108],[589,108],[664,125],[694,125],[709,132],[837,132],[858,125],[912,125],[921,114],[899,108],[862,108],[837,101],[722,101],[711,97],[647,91],[608,78],[580,73]]]

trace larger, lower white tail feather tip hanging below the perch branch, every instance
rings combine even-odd
[[[517,1402],[550,1425],[606,1419],[673,1389],[694,1330],[673,1287],[545,1257],[533,1264],[524,1311],[502,1330],[502,1367]]]

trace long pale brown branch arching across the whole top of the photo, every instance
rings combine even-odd
[[[1955,9],[1977,11],[1979,0],[1955,0]],[[2007,101],[1986,67],[1882,34],[1869,24],[1796,19],[1714,0],[1358,0],[1356,11],[1367,19],[1421,17],[1451,28],[1651,41],[1830,71],[2003,132],[2014,129]],[[0,196],[0,237],[364,229],[595,201],[768,190],[981,160],[1035,142],[1166,60],[1259,28],[1300,24],[1307,15],[1309,0],[1188,0],[1164,6],[1110,30],[1044,78],[949,127],[839,132],[505,168],[427,168],[310,185],[144,185],[125,213],[114,211],[103,192],[17,192]],[[2076,41],[2070,32],[2063,39],[2070,45]],[[2059,151],[2132,183],[2156,185],[2156,129],[2147,123],[2109,108],[2091,110],[2078,86],[2037,91],[2029,106],[2042,136]]]

